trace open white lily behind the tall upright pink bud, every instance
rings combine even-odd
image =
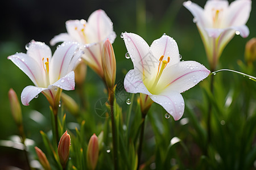
[[[102,45],[109,39],[111,43],[115,40],[113,23],[103,10],[94,11],[88,18],[88,22],[81,20],[68,20],[66,22],[67,33],[55,36],[51,45],[61,41],[77,41],[84,45],[82,58],[86,63],[103,78],[101,56]]]

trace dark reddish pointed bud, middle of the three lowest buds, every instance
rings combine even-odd
[[[69,147],[71,145],[70,143],[70,135],[67,131],[62,135],[60,138],[59,146],[58,146],[58,155],[60,158],[60,164],[63,168],[65,168],[67,162],[68,162],[68,156],[69,156]]]

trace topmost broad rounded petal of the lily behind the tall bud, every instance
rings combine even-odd
[[[103,41],[113,32],[113,23],[105,11],[97,10],[90,14],[85,29],[90,43]]]

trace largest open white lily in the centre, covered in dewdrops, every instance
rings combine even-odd
[[[210,71],[195,61],[180,62],[176,41],[170,36],[163,35],[151,46],[134,33],[122,33],[121,36],[134,65],[125,76],[125,90],[150,96],[174,120],[179,120],[184,113],[180,93],[206,78]]]

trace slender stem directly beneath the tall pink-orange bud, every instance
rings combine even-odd
[[[110,103],[110,115],[111,115],[111,122],[112,122],[112,139],[113,139],[113,155],[114,155],[114,169],[118,169],[117,164],[117,137],[115,136],[115,117],[114,117],[114,90],[109,89],[109,103]]]

